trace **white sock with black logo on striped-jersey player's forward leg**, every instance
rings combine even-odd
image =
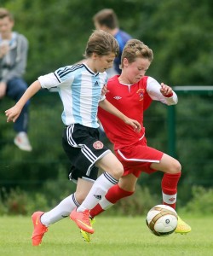
[[[117,184],[118,180],[112,177],[107,172],[101,174],[93,184],[89,191],[89,194],[84,199],[80,207],[78,207],[77,212],[83,212],[86,209],[94,208],[99,201],[107,194],[108,189],[110,189],[114,184]]]

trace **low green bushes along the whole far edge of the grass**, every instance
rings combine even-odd
[[[55,189],[57,188],[57,189]],[[62,180],[48,181],[45,187],[36,193],[26,193],[20,188],[1,189],[0,214],[4,215],[28,215],[38,210],[48,212],[59,204],[66,196],[71,195],[75,186]],[[149,188],[137,185],[135,194],[118,201],[114,206],[103,212],[101,216],[141,216],[162,200]],[[213,212],[213,189],[193,186],[192,198],[185,207],[177,207],[177,212],[187,212],[196,215],[210,215]]]

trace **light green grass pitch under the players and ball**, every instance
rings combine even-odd
[[[145,217],[98,217],[92,241],[86,243],[69,218],[49,227],[39,247],[32,247],[29,217],[0,218],[0,255],[7,256],[117,256],[213,255],[212,217],[184,218],[192,226],[187,235],[154,236]]]

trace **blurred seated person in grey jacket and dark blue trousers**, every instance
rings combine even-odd
[[[15,102],[27,89],[23,75],[26,71],[28,41],[13,32],[14,17],[7,9],[0,9],[0,99],[8,96]],[[19,119],[14,123],[14,144],[25,151],[32,151],[27,136],[29,102],[26,102]]]

